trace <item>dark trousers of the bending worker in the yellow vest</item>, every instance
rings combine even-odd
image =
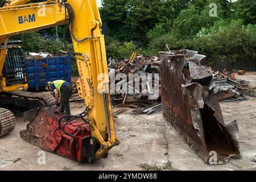
[[[61,89],[61,109],[60,111],[64,113],[66,111],[66,115],[71,115],[70,106],[69,106],[69,96],[72,92],[73,88],[71,85],[66,85],[63,89]]]

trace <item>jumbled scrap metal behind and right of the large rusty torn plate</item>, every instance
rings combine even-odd
[[[159,52],[165,53],[165,52]],[[180,50],[169,51],[169,54],[185,55],[185,69],[183,69],[183,75],[188,80],[198,82],[201,85],[207,86],[212,89],[214,94],[217,95],[219,101],[243,101],[246,100],[246,96],[255,97],[255,88],[250,87],[250,82],[245,80],[237,80],[235,73],[224,69],[221,72],[215,72],[210,67],[204,67],[201,65],[201,61],[206,58],[205,55],[198,54],[197,51]],[[187,67],[186,67],[187,64]],[[191,68],[190,70],[188,68]],[[207,74],[205,73],[207,72]],[[238,73],[244,74],[244,71]]]

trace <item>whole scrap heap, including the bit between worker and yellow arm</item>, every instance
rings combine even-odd
[[[227,69],[215,72],[210,67],[201,65],[201,61],[206,56],[198,54],[197,51],[185,49],[167,53],[159,52],[159,55],[185,55],[185,65],[182,71],[185,80],[192,80],[206,86],[217,95],[219,101],[242,101],[247,99],[246,96],[256,97],[255,88],[251,88],[248,81],[235,79],[233,72]],[[113,106],[119,108],[114,115],[124,112],[127,108],[133,109],[134,114],[153,114],[162,110],[160,67],[161,61],[158,57],[137,56],[136,53],[133,53],[131,59],[109,59],[111,101]],[[174,67],[175,65],[171,65],[171,69],[175,69]],[[118,80],[116,79],[118,74],[125,77]],[[130,75],[136,76],[130,80]],[[151,82],[147,81],[149,76],[153,77]],[[146,78],[146,92],[143,92],[145,88],[142,86],[143,78]],[[73,79],[73,86],[76,86],[76,81]],[[135,82],[139,82],[139,89],[134,86]],[[157,97],[152,97],[154,95]],[[71,101],[83,101],[79,98],[75,87]]]

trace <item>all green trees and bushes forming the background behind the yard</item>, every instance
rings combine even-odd
[[[213,1],[102,0],[107,57],[129,58],[133,51],[158,55],[166,44],[171,49],[195,49],[208,57],[256,56],[256,1],[215,0],[217,17],[209,15],[210,3]],[[62,40],[42,38],[45,34],[55,34],[55,28],[13,39],[22,40],[26,51],[57,53],[64,49]],[[62,38],[63,27],[58,27],[58,34]]]

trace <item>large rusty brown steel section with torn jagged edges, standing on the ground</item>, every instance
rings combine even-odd
[[[208,87],[212,78],[191,62],[188,80],[183,54],[166,52],[160,57],[162,110],[173,129],[207,163],[213,151],[219,162],[240,156],[237,122],[225,125],[218,97]],[[210,79],[198,81],[205,78]]]

